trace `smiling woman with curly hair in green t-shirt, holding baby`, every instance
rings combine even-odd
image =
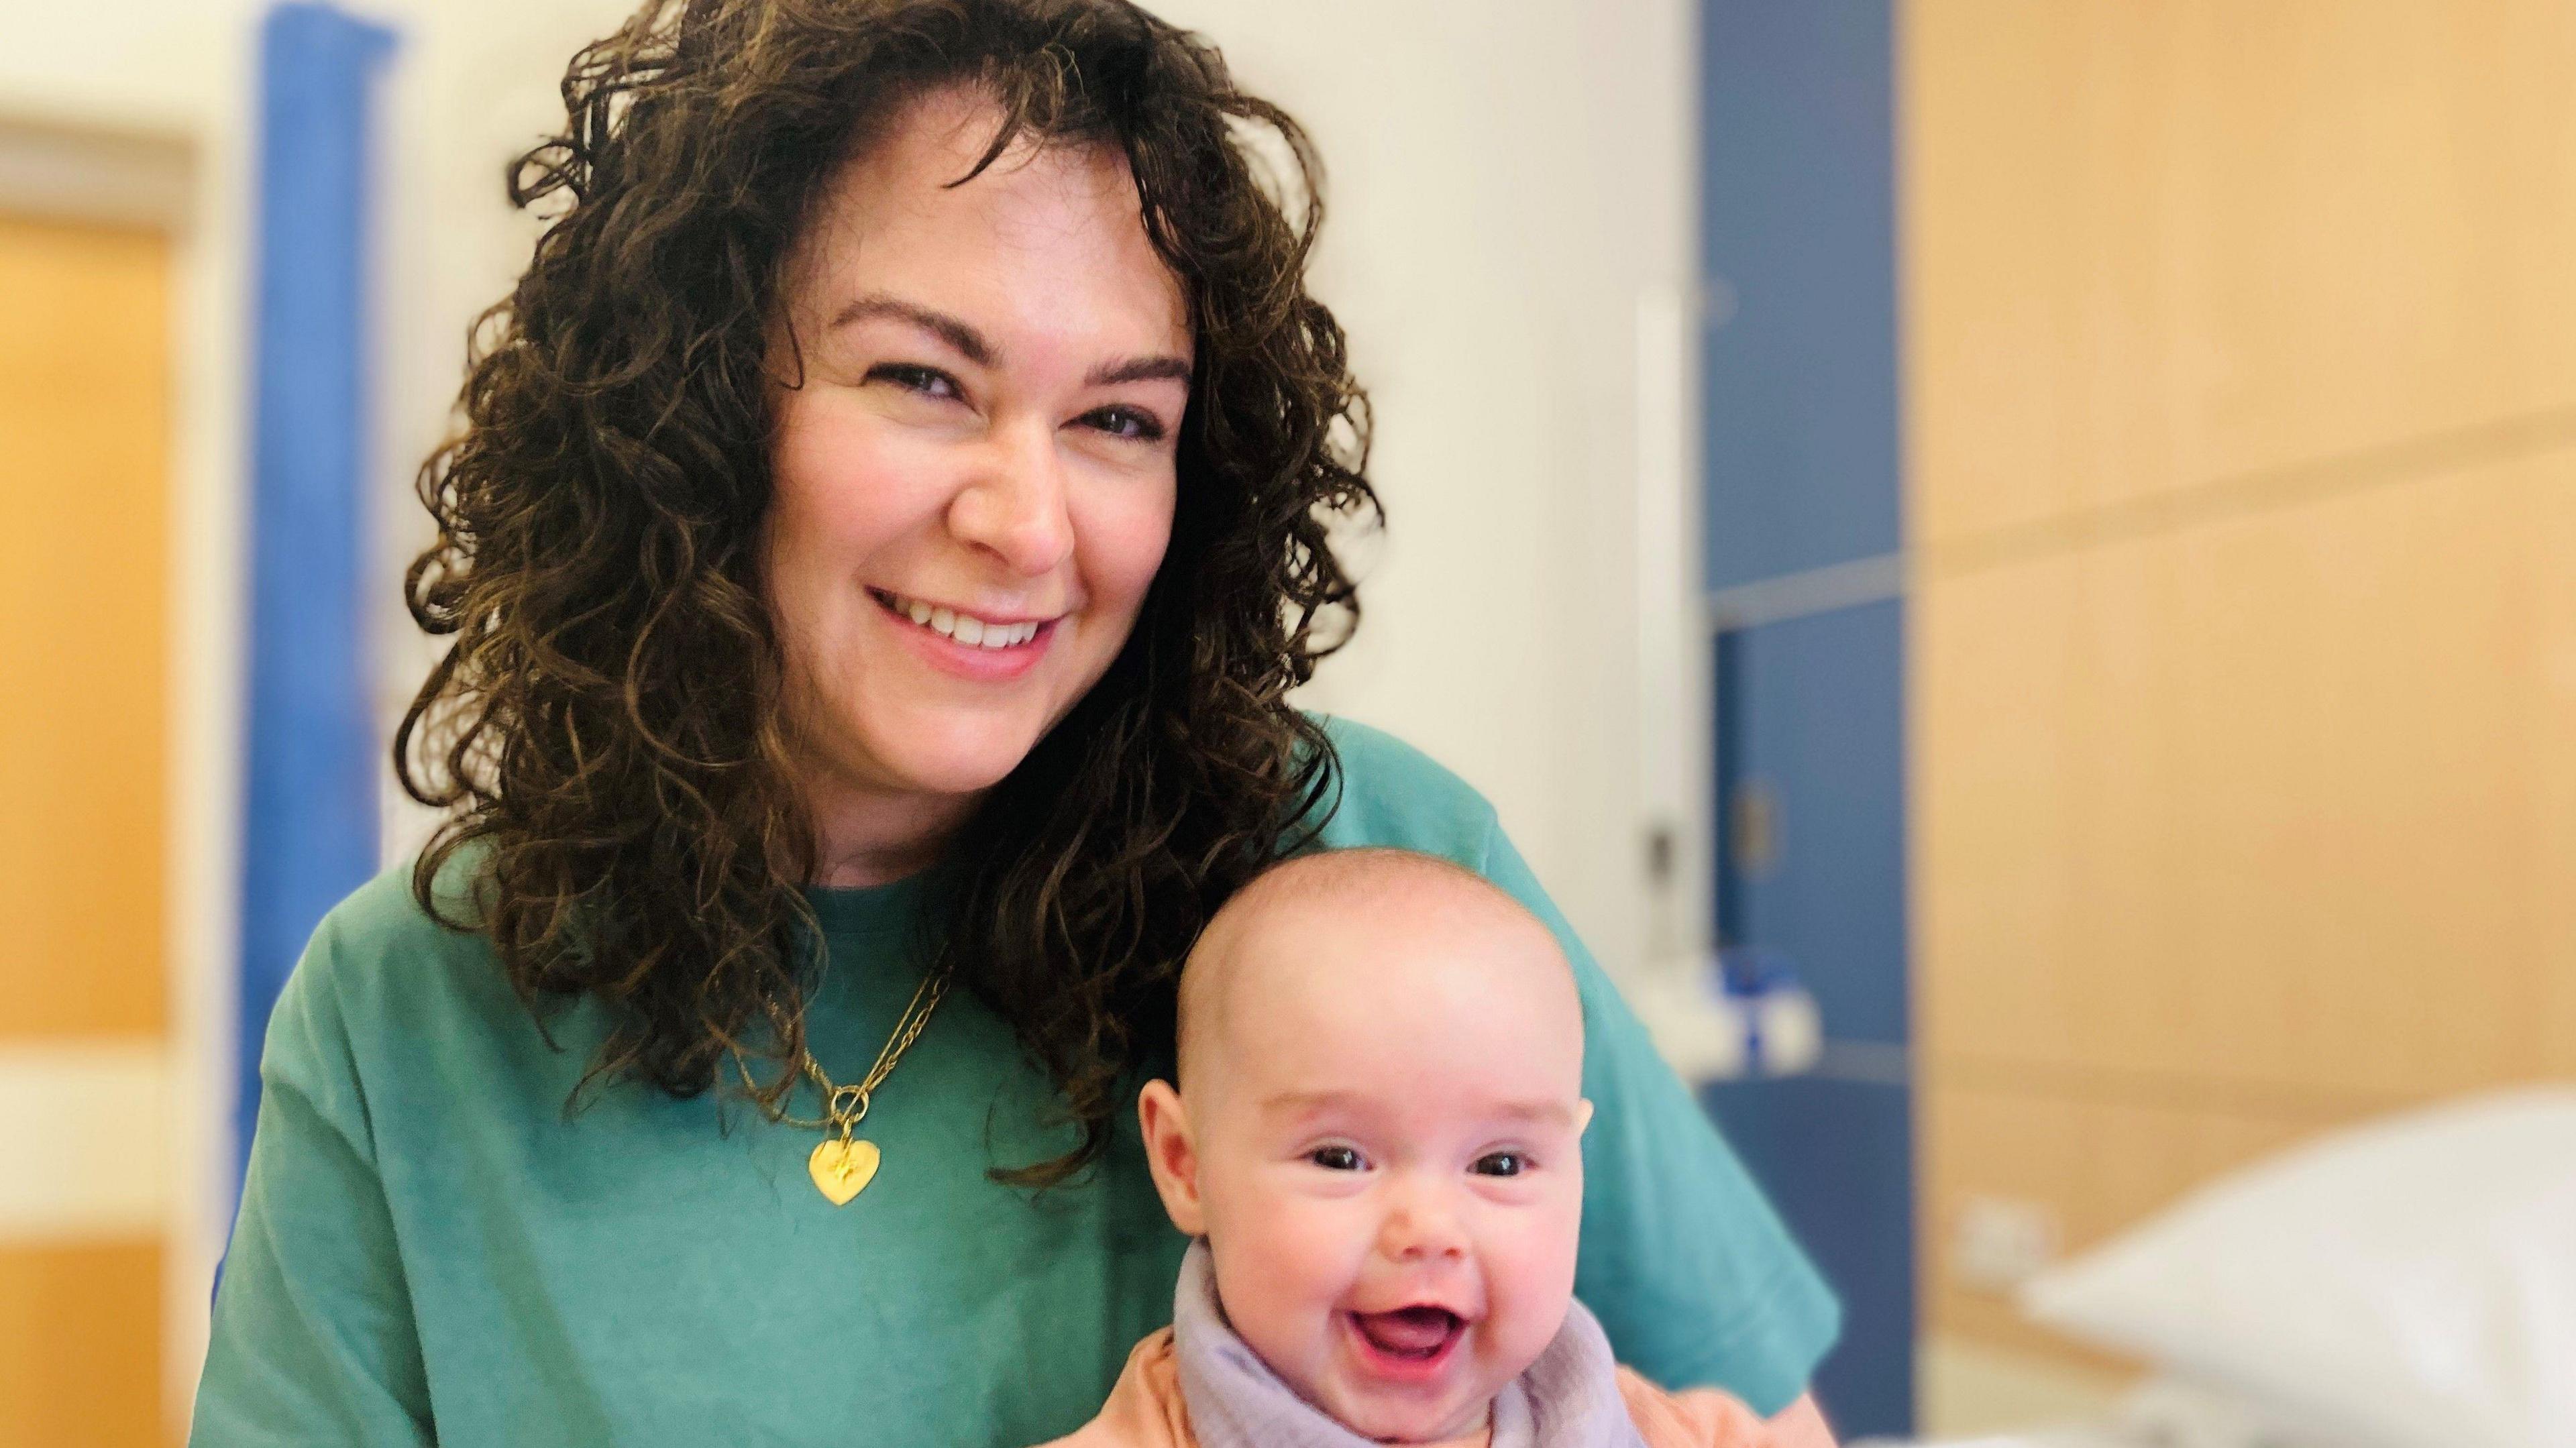
[[[657,3],[564,95],[422,472],[453,824],[278,1002],[196,1438],[1069,1433],[1170,1311],[1185,946],[1381,843],[1566,935],[1620,1355],[1824,1440],[1832,1299],[1494,812],[1285,703],[1373,508],[1296,124],[1121,0]]]

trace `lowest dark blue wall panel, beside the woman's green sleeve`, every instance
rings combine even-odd
[[[1788,1077],[1700,1100],[1842,1296],[1816,1402],[1844,1440],[1914,1433],[1911,1092]]]

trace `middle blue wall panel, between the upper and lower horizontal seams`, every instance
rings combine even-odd
[[[1904,603],[1721,634],[1718,933],[1785,951],[1837,1041],[1906,1041]],[[1767,861],[1736,837],[1765,799]]]

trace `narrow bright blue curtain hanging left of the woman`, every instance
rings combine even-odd
[[[234,1167],[260,1041],[322,915],[376,873],[366,665],[368,193],[394,33],[330,5],[260,26],[260,291]],[[234,1172],[240,1183],[240,1172]]]

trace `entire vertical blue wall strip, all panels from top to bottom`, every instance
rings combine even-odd
[[[1710,590],[1904,546],[1891,0],[1700,5]],[[1816,1391],[1844,1435],[1914,1425],[1904,603],[1713,636],[1718,938],[1785,953],[1824,1074],[1708,1108],[1844,1301]]]

